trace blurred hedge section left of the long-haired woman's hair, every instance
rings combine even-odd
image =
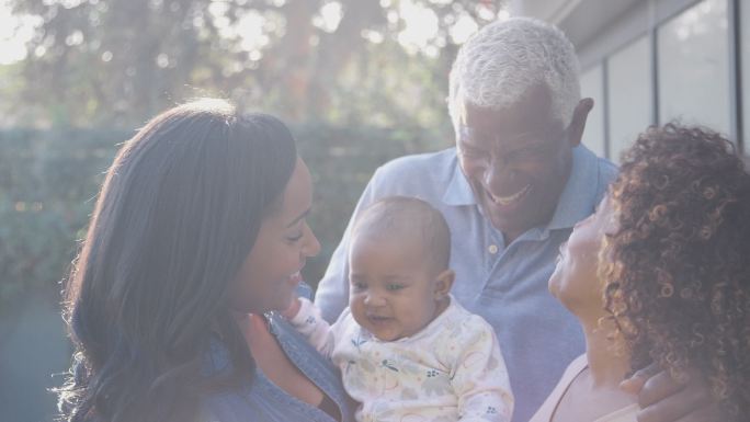
[[[0,303],[54,285],[124,132],[0,132]]]

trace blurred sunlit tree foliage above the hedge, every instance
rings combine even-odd
[[[37,22],[13,95],[0,99],[12,124],[31,117],[35,126],[129,127],[174,102],[219,95],[289,122],[427,126],[444,115],[447,69],[457,48],[453,30],[466,20],[493,20],[504,1],[8,4],[16,16]],[[326,23],[325,15],[338,19]],[[416,26],[427,34],[406,36]],[[2,100],[11,104],[11,98],[23,106],[3,107]]]

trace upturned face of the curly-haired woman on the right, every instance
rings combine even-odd
[[[596,276],[599,251],[604,235],[613,231],[614,213],[609,197],[604,197],[596,212],[573,227],[555,272],[549,277],[549,292],[571,312],[582,316],[602,312],[602,283]]]

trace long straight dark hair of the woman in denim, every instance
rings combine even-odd
[[[221,100],[169,110],[123,146],[66,286],[66,422],[195,420],[201,394],[251,377],[229,285],[295,163],[283,123]],[[214,335],[234,369],[220,380],[202,367]]]

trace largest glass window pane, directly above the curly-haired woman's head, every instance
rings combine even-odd
[[[659,121],[730,134],[727,0],[704,0],[657,30]]]

